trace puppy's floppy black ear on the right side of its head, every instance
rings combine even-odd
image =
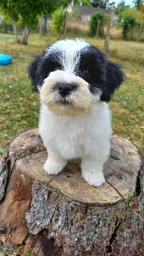
[[[100,97],[102,101],[111,100],[111,95],[116,89],[120,87],[120,84],[125,80],[125,74],[122,72],[122,67],[112,61],[106,62],[106,86]]]

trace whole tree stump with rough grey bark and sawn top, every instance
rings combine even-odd
[[[144,174],[140,152],[113,134],[106,182],[87,184],[79,159],[47,175],[38,129],[10,141],[0,171],[0,232],[37,256],[143,255]],[[1,239],[1,236],[0,236]]]

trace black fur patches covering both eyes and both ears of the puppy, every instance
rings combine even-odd
[[[50,51],[45,57],[46,52],[42,56],[37,56],[28,68],[33,92],[38,92],[38,87],[42,86],[50,72],[63,70],[61,52]],[[97,89],[100,89],[102,92],[100,100],[106,102],[111,100],[111,95],[125,79],[121,66],[107,60],[106,55],[93,45],[84,47],[77,54],[80,54],[80,61],[76,65],[74,74],[88,82],[89,90],[93,95],[97,93]]]

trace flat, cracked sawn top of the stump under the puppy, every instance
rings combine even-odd
[[[47,151],[43,150],[43,147],[40,152],[36,152],[35,147],[39,143],[38,129],[31,129],[20,134],[12,142],[9,155],[19,152],[17,168],[28,173],[33,179],[60,190],[68,198],[82,204],[104,206],[116,204],[121,198],[127,198],[129,191],[135,193],[141,156],[138,148],[129,140],[113,135],[111,156],[104,166],[107,182],[99,188],[94,188],[84,181],[81,175],[81,161],[77,159],[70,161],[59,175],[47,175],[43,168]],[[31,147],[34,148],[35,154],[31,154]]]

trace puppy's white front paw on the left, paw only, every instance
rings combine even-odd
[[[58,173],[60,173],[63,168],[65,167],[65,165],[67,164],[67,161],[51,161],[51,159],[47,159],[47,161],[44,164],[44,170],[45,172],[47,172],[48,174],[54,174],[57,175]]]

